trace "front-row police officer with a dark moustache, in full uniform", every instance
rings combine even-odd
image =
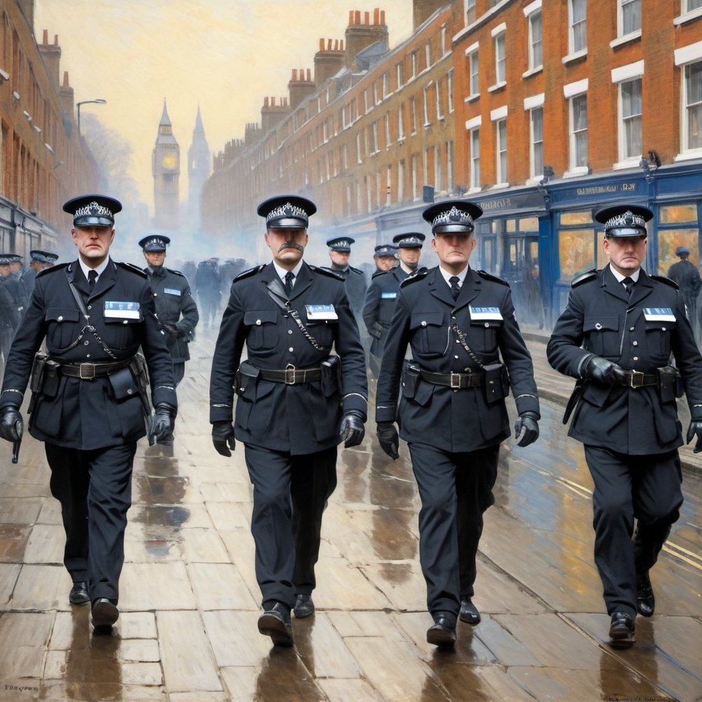
[[[336,446],[362,442],[368,398],[343,279],[303,260],[315,211],[293,195],[258,207],[273,261],[234,279],[210,380],[213,444],[231,456],[234,436],[243,442],[253,483],[264,610],[258,630],[284,646],[293,642],[291,607],[298,618],[314,612],[314,564],[322,512],[336,487]],[[244,342],[248,359],[241,362]]]

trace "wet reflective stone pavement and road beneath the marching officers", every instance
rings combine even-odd
[[[682,515],[651,571],[656,614],[615,651],[592,562],[592,482],[561,423],[573,381],[548,368],[536,336],[541,438],[503,444],[479,552],[482,623],[459,623],[455,651],[425,642],[409,453],[386,458],[370,422],[362,446],[339,454],[317,613],[293,618],[293,649],[272,647],[256,628],[244,452],[218,456],[209,437],[214,335],[191,347],[176,445],[140,442],[112,636],[93,635],[88,607],[67,602],[43,447],[27,436],[12,465],[0,446],[1,701],[702,700],[702,462],[682,452]]]

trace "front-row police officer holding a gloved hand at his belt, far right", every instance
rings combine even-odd
[[[557,371],[578,379],[569,435],[585,445],[595,483],[595,564],[610,641],[622,648],[633,644],[637,611],[654,613],[649,569],[682,504],[677,371],[690,406],[687,441],[696,436],[702,450],[702,357],[684,301],[674,282],[641,267],[652,217],[633,204],[595,214],[609,265],[574,279],[546,349]]]

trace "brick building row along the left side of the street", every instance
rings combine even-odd
[[[99,183],[74,119],[58,37],[34,41],[33,0],[0,0],[0,251],[62,253],[62,204]]]

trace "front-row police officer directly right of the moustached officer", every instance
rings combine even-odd
[[[464,200],[423,212],[439,265],[402,282],[376,390],[380,447],[398,457],[395,420],[409,444],[422,503],[420,562],[434,619],[427,641],[437,646],[456,642],[458,616],[480,621],[471,600],[475,555],[482,512],[494,503],[500,443],[510,435],[508,376],[518,445],[538,437],[534,368],[510,287],[468,265],[473,220],[481,214]],[[408,345],[412,359],[405,362]]]

